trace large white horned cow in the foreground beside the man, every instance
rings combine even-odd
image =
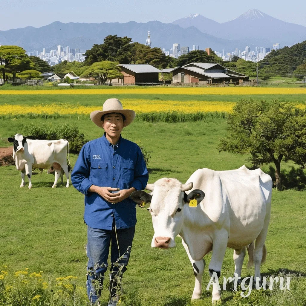
[[[268,174],[245,166],[229,171],[204,168],[196,170],[186,184],[162,178],[146,189],[152,192],[135,191],[131,198],[137,204],[151,202],[151,246],[172,248],[174,238],[182,238],[196,277],[192,299],[199,299],[202,294],[203,257],[212,251],[209,274],[212,276],[215,271],[219,277],[226,247],[234,249],[234,275],[240,277],[249,246],[249,263],[255,263],[254,280],[258,277],[261,283],[260,264],[267,256],[265,240],[271,211],[272,179]],[[189,207],[192,199],[196,199],[196,207]],[[220,299],[213,282],[212,300]]]

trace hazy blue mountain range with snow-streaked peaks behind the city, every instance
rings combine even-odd
[[[306,37],[306,27],[278,20],[259,10],[249,10],[241,16],[224,23],[218,23],[200,14],[191,14],[173,23],[149,21],[137,23],[62,23],[55,21],[40,28],[25,28],[0,31],[0,44],[18,45],[27,51],[42,51],[46,48],[57,49],[57,45],[87,50],[94,43],[103,43],[107,35],[128,36],[144,43],[147,31],[151,31],[151,47],[169,50],[173,43],[181,46],[199,45],[200,49],[210,47],[213,50],[235,48],[244,50],[246,45],[272,47],[280,43],[281,47],[297,43]]]

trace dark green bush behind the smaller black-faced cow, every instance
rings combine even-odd
[[[69,150],[71,153],[79,153],[83,145],[88,142],[84,139],[84,134],[79,129],[70,124],[47,125],[47,124],[30,124],[23,128],[25,136],[31,135],[36,139],[56,140],[66,139],[69,141]]]

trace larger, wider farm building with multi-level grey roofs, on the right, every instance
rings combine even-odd
[[[162,73],[172,72],[172,83],[215,84],[223,82],[243,82],[248,76],[227,69],[216,63],[190,63],[182,67],[164,69]]]

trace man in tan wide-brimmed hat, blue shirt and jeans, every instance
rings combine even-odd
[[[90,114],[104,129],[101,138],[83,146],[71,174],[73,186],[85,195],[84,222],[88,226],[87,293],[99,299],[111,243],[110,299],[116,305],[122,273],[129,262],[136,225],[136,203],[129,196],[148,181],[144,157],[137,144],[121,137],[123,127],[135,119],[118,99],[108,99],[103,110]]]

